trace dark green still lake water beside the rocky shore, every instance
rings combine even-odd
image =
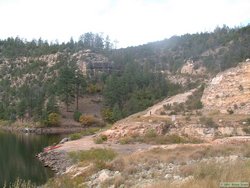
[[[17,178],[41,185],[53,176],[35,155],[60,140],[55,135],[11,134],[0,131],[0,187]]]

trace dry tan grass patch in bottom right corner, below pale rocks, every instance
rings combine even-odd
[[[162,181],[147,188],[218,188],[220,182],[250,182],[250,161],[199,163],[193,165],[191,175],[193,179],[186,182]]]

